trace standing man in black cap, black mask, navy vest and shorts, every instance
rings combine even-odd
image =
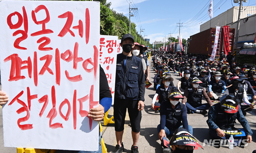
[[[116,86],[114,96],[114,119],[117,145],[112,153],[124,151],[122,143],[126,109],[132,126],[132,153],[138,153],[141,110],[144,109],[145,76],[142,60],[134,56],[131,51],[134,37],[131,34],[123,35],[120,46],[123,52],[117,55]]]

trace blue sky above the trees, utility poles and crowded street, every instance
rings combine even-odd
[[[123,13],[128,18],[129,2],[132,2],[131,8],[138,8],[138,11],[133,12],[134,17],[131,17],[131,21],[137,25],[137,31],[140,31],[140,26],[145,29],[142,35],[147,35],[145,38],[150,39],[150,43],[163,41],[165,36],[170,36],[170,33],[177,38],[178,22],[187,23],[182,24],[180,31],[182,38],[187,39],[199,33],[200,25],[210,20],[207,13],[210,0],[107,0],[107,2],[112,3],[111,9]],[[255,0],[247,0],[243,6],[255,3]],[[213,0],[213,17],[233,6],[239,6],[239,4],[234,3],[234,0]]]

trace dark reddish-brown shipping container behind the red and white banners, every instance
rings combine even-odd
[[[198,59],[208,59],[212,55],[216,28],[210,28],[200,33],[190,36],[190,44],[188,54],[196,56]],[[233,51],[235,29],[229,28],[229,47],[230,51]],[[215,60],[218,60],[220,51],[224,48],[223,43],[223,28],[220,28],[219,41],[217,51],[215,54]]]

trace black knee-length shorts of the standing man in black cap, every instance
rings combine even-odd
[[[128,114],[132,131],[137,133],[140,131],[140,121],[142,118],[142,112],[138,110],[139,100],[127,100],[127,99],[114,99],[114,126],[115,131],[120,132],[124,130],[124,122],[126,117],[126,108],[128,108]]]

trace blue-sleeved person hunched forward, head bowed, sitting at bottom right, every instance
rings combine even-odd
[[[219,103],[210,107],[208,120],[206,121],[209,126],[209,135],[212,136],[213,139],[229,139],[230,135],[225,134],[223,130],[235,129],[234,123],[236,123],[236,119],[243,126],[246,136],[236,136],[236,138],[234,138],[234,146],[239,145],[241,142],[250,143],[252,141],[253,133],[248,121],[242,114],[241,107],[238,104],[235,94],[222,96]]]

